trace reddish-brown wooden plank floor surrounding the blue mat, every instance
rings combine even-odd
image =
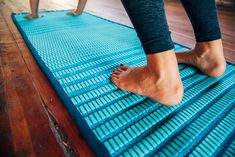
[[[75,6],[41,0],[40,9]],[[0,156],[94,156],[11,20],[12,12],[28,10],[27,0],[0,0]],[[131,25],[119,0],[88,0],[86,10]],[[193,47],[181,5],[166,1],[166,13],[173,40]],[[219,20],[226,59],[235,63],[235,11],[220,10]]]

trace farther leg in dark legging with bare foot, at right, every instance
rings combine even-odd
[[[224,73],[221,32],[214,0],[181,0],[192,23],[196,45],[187,52],[177,53],[179,63],[199,68],[204,74],[217,77]]]

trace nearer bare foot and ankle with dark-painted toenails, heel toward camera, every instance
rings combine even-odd
[[[147,55],[147,65],[120,65],[112,73],[120,89],[147,96],[165,105],[177,105],[183,97],[177,60],[172,50]]]

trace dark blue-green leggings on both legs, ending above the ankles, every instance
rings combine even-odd
[[[197,42],[221,38],[214,0],[181,0]],[[167,24],[164,0],[122,0],[146,54],[174,48]]]

